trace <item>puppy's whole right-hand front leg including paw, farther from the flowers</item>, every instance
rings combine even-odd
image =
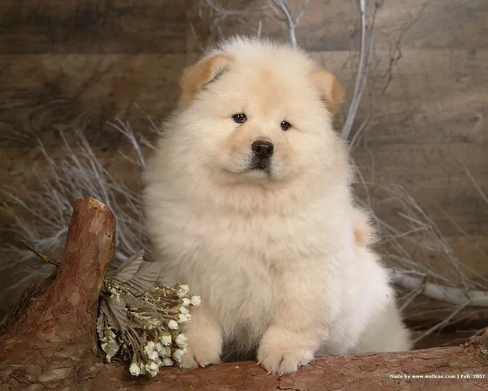
[[[328,333],[323,319],[318,318],[324,306],[313,288],[315,281],[291,275],[286,280],[275,317],[257,351],[257,360],[268,374],[279,376],[310,362]]]

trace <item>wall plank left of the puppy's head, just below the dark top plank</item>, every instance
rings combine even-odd
[[[36,138],[56,149],[59,130],[83,128],[96,149],[114,150],[120,137],[107,121],[146,131],[146,108],[160,121],[174,107],[185,61],[184,52],[0,55],[0,149],[34,147]]]

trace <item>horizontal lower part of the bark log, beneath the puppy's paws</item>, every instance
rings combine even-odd
[[[432,348],[411,353],[319,357],[300,368],[298,374],[281,378],[266,374],[256,362],[226,363],[191,370],[163,368],[155,378],[133,378],[128,367],[116,362],[102,364],[96,358],[91,362],[88,359],[77,362],[76,374],[66,366],[66,360],[56,360],[48,368],[50,373],[43,376],[33,374],[29,380],[24,374],[18,374],[23,366],[17,360],[19,363],[15,364],[15,368],[18,372],[13,373],[7,362],[0,369],[0,376],[15,375],[5,377],[3,389],[8,391],[28,390],[31,385],[66,391],[478,391],[488,386],[486,349],[486,341],[475,340],[468,346]],[[63,370],[56,373],[56,365],[63,365]],[[31,367],[36,366],[31,364]],[[405,375],[437,377],[391,377]],[[455,378],[440,378],[446,375]],[[476,375],[485,377],[474,378]]]

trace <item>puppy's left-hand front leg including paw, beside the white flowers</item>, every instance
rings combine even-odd
[[[191,310],[192,318],[183,327],[188,338],[188,351],[183,355],[180,367],[196,368],[220,363],[222,353],[222,329],[204,302]]]

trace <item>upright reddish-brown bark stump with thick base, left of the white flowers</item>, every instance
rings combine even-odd
[[[75,202],[57,275],[28,288],[0,325],[2,387],[49,387],[63,384],[63,379],[73,385],[79,363],[98,355],[98,297],[114,252],[114,235],[114,215],[102,202]]]

